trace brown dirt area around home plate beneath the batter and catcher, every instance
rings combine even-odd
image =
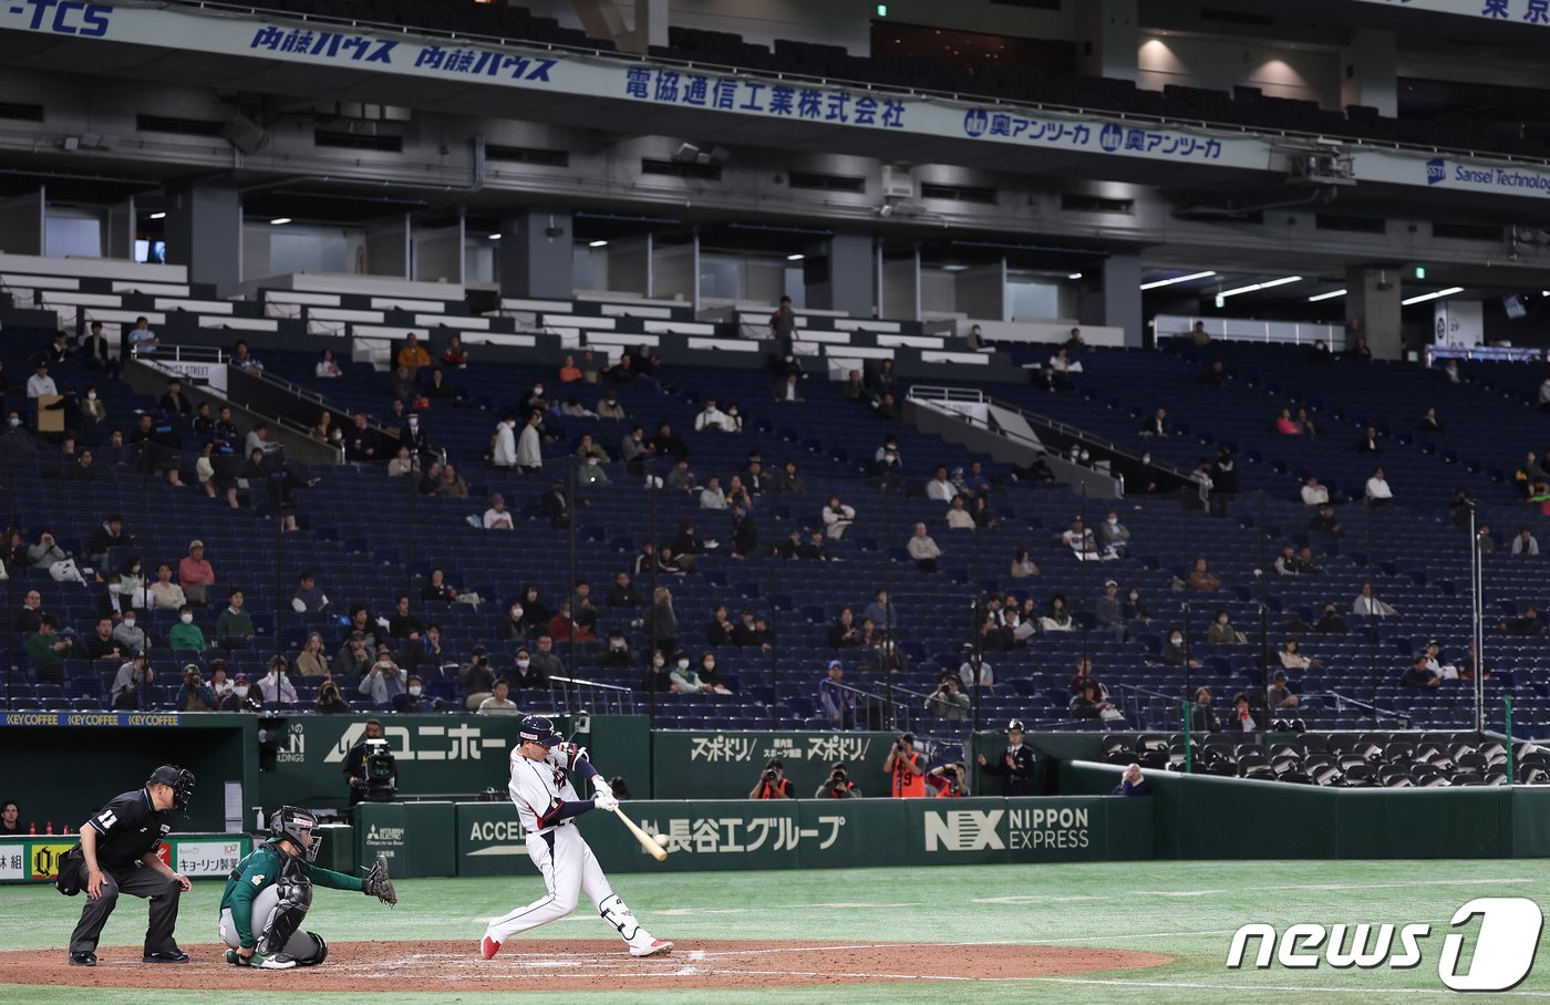
[[[1015,980],[1170,963],[1155,952],[1091,946],[674,940],[670,955],[637,960],[618,940],[516,937],[493,960],[465,942],[339,942],[319,966],[257,971],[228,965],[225,946],[192,946],[188,965],[141,963],[108,948],[98,966],[68,966],[64,949],[0,952],[0,983],[209,991],[671,991],[790,988],[877,980]]]

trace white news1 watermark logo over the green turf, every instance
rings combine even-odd
[[[1525,897],[1480,897],[1454,912],[1452,928],[1480,918],[1469,963],[1459,972],[1466,937],[1443,935],[1437,977],[1454,991],[1510,991],[1534,968],[1544,912]],[[1432,926],[1412,924],[1291,924],[1276,932],[1269,924],[1245,924],[1232,934],[1228,969],[1268,969],[1274,960],[1286,969],[1414,969],[1426,962]],[[1251,940],[1259,940],[1249,957]]]

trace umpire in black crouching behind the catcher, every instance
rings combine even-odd
[[[143,963],[189,962],[172,929],[178,923],[178,897],[191,884],[157,858],[157,849],[172,830],[172,811],[186,813],[192,794],[192,771],[161,765],[144,788],[116,796],[81,827],[81,844],[60,866],[62,872],[73,870],[65,881],[74,878],[74,892],[87,892],[81,923],[70,935],[71,966],[96,966],[98,940],[119,894],[150,900]],[[70,892],[65,884],[60,890]]]

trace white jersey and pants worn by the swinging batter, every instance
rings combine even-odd
[[[527,856],[542,873],[549,894],[491,921],[485,935],[498,943],[566,917],[575,911],[583,892],[631,951],[639,954],[656,942],[608,884],[592,849],[575,827],[575,816],[558,816],[564,804],[581,802],[566,771],[583,759],[586,748],[575,743],[550,746],[542,760],[529,760],[519,748],[512,751],[512,784],[507,791],[516,805],[522,830],[527,832]]]

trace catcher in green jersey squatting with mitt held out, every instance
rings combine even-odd
[[[377,863],[363,878],[313,866],[321,836],[313,836],[318,818],[307,810],[281,807],[270,818],[268,841],[237,863],[220,898],[220,938],[232,966],[290,969],[316,966],[329,955],[322,935],[301,931],[312,906],[312,886],[360,890],[384,904],[398,895],[388,878],[388,859]]]

